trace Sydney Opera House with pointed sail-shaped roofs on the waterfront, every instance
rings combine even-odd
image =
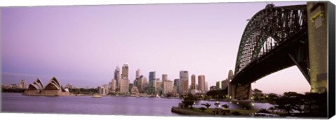
[[[43,87],[43,83],[40,79],[37,79],[32,84],[29,84],[28,89],[25,90],[22,95],[26,96],[73,96],[69,91],[65,91],[56,77],[52,77],[50,82]]]

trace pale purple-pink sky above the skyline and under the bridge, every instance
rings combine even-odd
[[[276,6],[304,2],[274,2]],[[209,87],[235,69],[241,35],[257,3],[191,3],[1,8],[2,83],[52,76],[62,85],[108,84],[116,66],[148,77],[205,75]],[[265,93],[310,90],[296,66],[252,85]]]

